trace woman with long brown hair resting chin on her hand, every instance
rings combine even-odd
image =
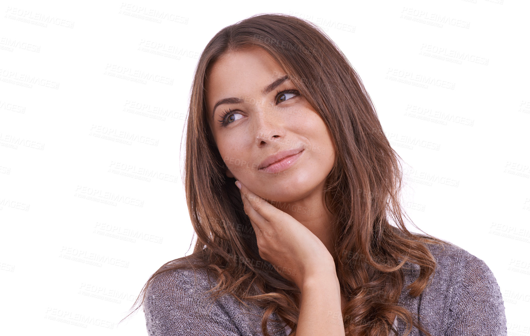
[[[265,14],[219,31],[186,149],[197,243],[147,281],[149,334],[506,335],[488,266],[405,228],[399,156],[315,25]]]

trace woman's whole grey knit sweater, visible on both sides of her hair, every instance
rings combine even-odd
[[[432,282],[418,297],[405,289],[419,275],[419,266],[405,263],[405,286],[399,303],[411,313],[420,314],[420,321],[432,336],[507,334],[504,302],[497,280],[488,266],[471,253],[455,245],[427,245],[437,265]],[[210,281],[214,286],[215,279]],[[203,295],[210,288],[206,271],[169,271],[149,286],[144,301],[144,313],[149,335],[156,336],[262,336],[263,308],[249,303],[240,306],[231,295],[220,297],[213,305]],[[202,299],[201,299],[202,298]],[[250,313],[250,314],[249,314]],[[273,336],[285,336],[279,316],[269,327],[277,328]],[[395,320],[399,335],[404,323]],[[269,329],[271,331],[271,329]],[[422,335],[412,328],[411,336]]]

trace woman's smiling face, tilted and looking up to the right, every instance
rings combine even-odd
[[[335,148],[322,118],[285,77],[261,48],[223,55],[205,83],[207,117],[228,177],[267,200],[294,202],[322,192]],[[288,150],[295,155],[260,169]]]

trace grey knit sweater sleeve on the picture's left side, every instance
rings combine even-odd
[[[240,336],[225,308],[208,298],[204,279],[197,279],[189,270],[155,278],[144,301],[149,336]]]

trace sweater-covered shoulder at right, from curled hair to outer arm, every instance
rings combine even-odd
[[[476,334],[479,330],[506,335],[504,301],[489,266],[448,242],[427,247],[436,260],[436,268],[417,303],[425,322],[445,330],[446,335]],[[415,271],[418,269],[416,265]]]

